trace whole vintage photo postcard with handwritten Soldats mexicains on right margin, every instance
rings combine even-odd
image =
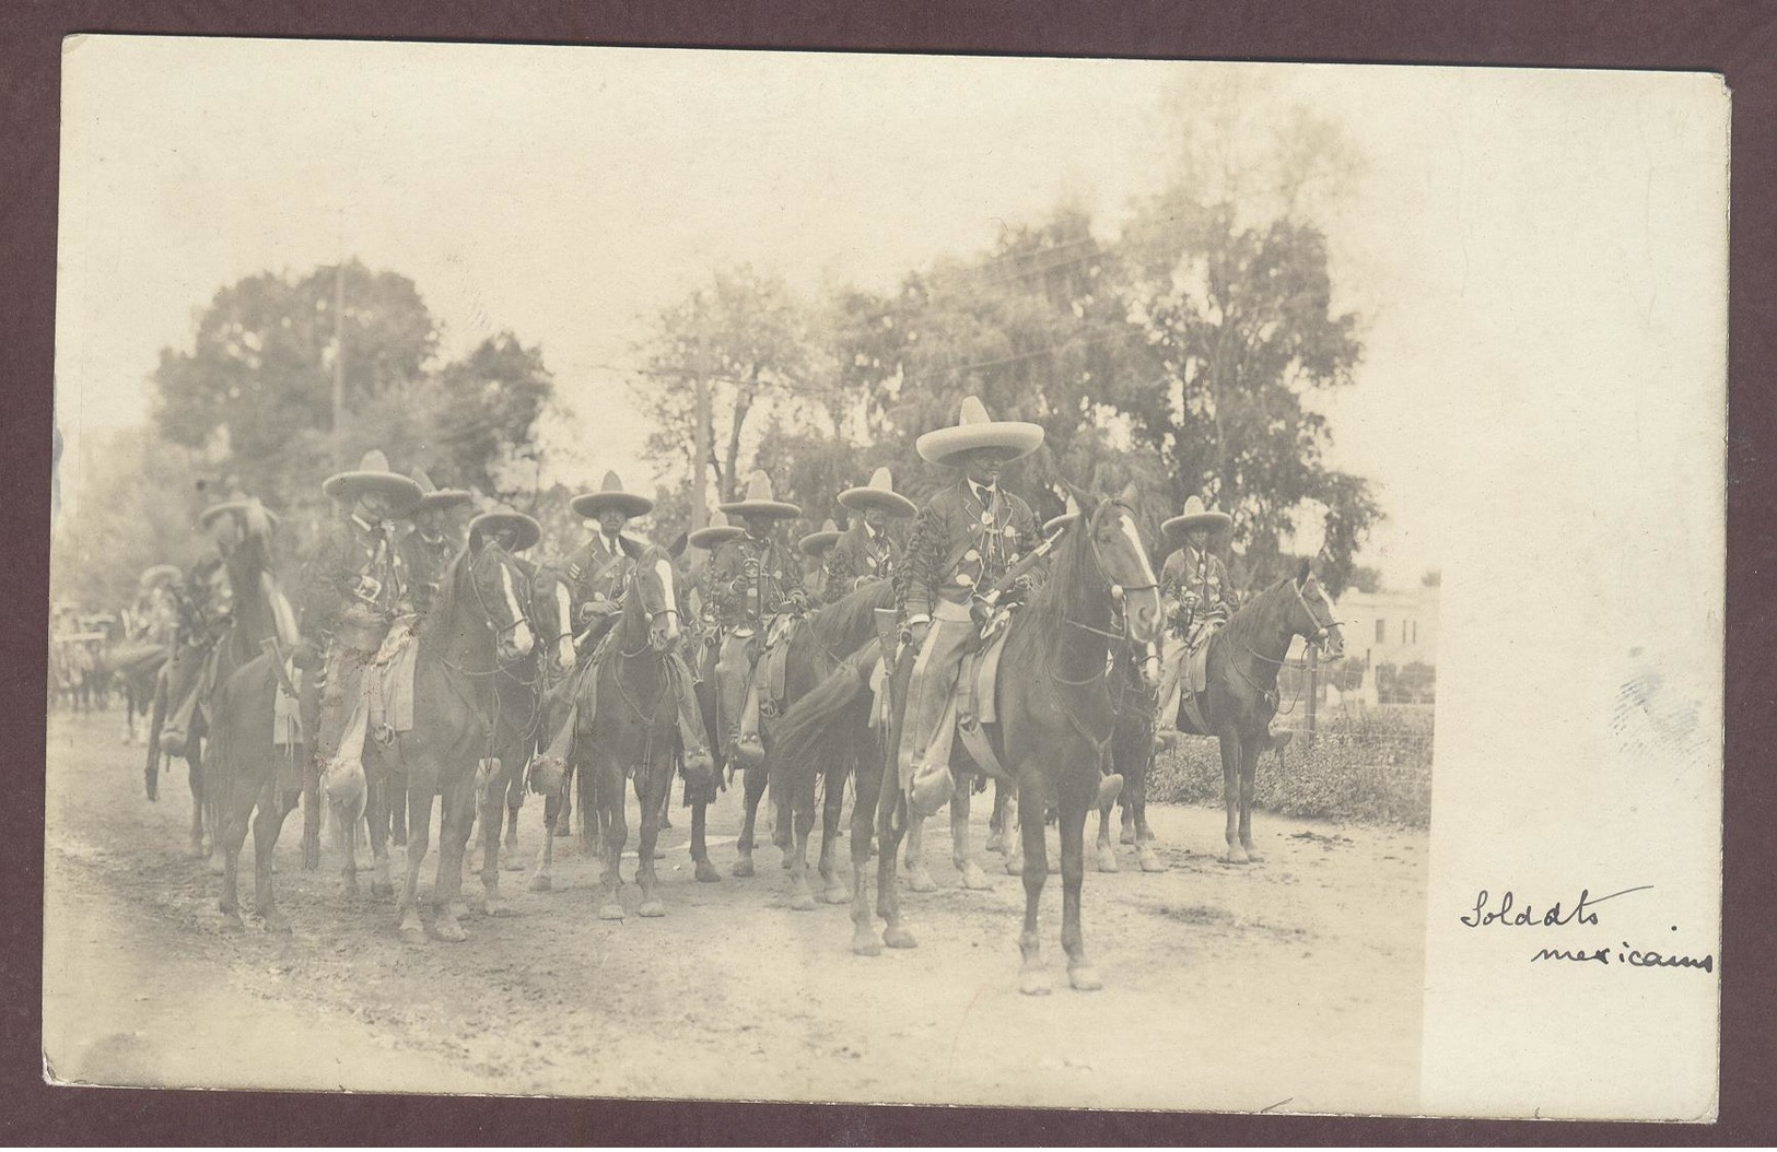
[[[1713,1118],[1727,128],[69,37],[44,1076]]]

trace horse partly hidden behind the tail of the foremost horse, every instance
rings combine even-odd
[[[780,641],[789,646],[784,660],[784,699],[787,706],[803,698],[821,680],[825,680],[841,660],[876,637],[876,609],[894,607],[894,584],[873,580],[857,588],[833,604],[823,605],[803,616]],[[741,859],[736,863],[736,875],[752,875],[752,834],[753,811],[759,804],[759,792],[753,777],[764,776],[777,797],[777,838],[784,847],[784,863],[789,868],[789,907],[796,912],[814,909],[814,893],[809,889],[809,834],[814,831],[814,809],[821,802],[821,900],[826,903],[844,903],[849,898],[846,886],[833,868],[833,847],[839,838],[839,817],[846,801],[846,777],[851,774],[851,758],[837,756],[814,765],[807,761],[791,765],[773,756],[775,730],[778,717],[764,717],[761,724],[761,742],[766,756],[764,767],[746,774],[746,817],[741,825]],[[821,793],[821,795],[817,795]],[[741,866],[746,872],[741,872]]]

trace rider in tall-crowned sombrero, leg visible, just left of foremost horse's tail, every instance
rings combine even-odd
[[[746,499],[716,508],[746,525],[741,536],[716,550],[704,572],[707,604],[721,628],[716,655],[720,738],[730,746],[729,763],[759,767],[764,763],[755,676],[759,657],[787,630],[778,618],[809,607],[801,564],[778,538],[775,525],[778,520],[794,520],[801,508],[775,499],[771,477],[762,470],[748,477]]]

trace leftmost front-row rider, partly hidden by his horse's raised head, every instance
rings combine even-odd
[[[156,584],[171,598],[178,619],[167,662],[167,721],[160,730],[160,749],[171,756],[185,754],[192,714],[215,690],[219,641],[235,619],[235,596],[242,595],[229,586],[227,561],[247,533],[249,508],[258,508],[258,501],[235,490],[197,513],[197,531],[210,536],[213,552],[192,564],[183,595],[172,582]],[[162,570],[142,575],[149,573]]]

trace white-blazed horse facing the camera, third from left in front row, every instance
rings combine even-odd
[[[654,847],[679,761],[679,701],[691,692],[689,671],[677,659],[681,639],[677,566],[652,543],[622,538],[634,561],[617,621],[592,653],[592,664],[576,678],[583,696],[576,701],[572,772],[579,786],[581,838],[588,854],[604,857],[599,879],[599,919],[624,919],[618,896],[618,864],[629,825],[624,817],[624,783],[634,774],[641,804],[636,884],[641,916],[665,916]],[[586,699],[585,692],[595,692]],[[693,841],[700,866],[702,845]]]

